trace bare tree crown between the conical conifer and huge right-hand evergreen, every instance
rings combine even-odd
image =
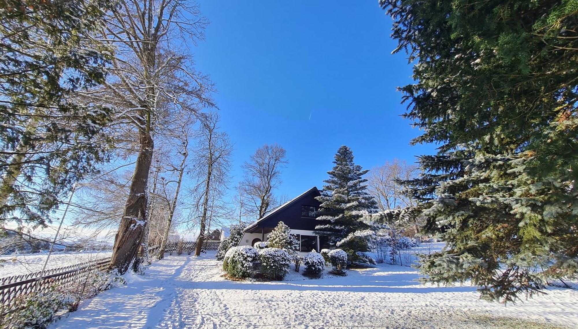
[[[405,161],[394,159],[372,168],[368,175],[368,192],[375,197],[380,211],[414,205],[411,197],[403,191],[398,180],[416,177],[418,167]]]

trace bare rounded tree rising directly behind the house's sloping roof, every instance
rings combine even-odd
[[[276,203],[273,190],[281,184],[281,169],[288,163],[286,153],[279,144],[265,144],[243,165],[246,209],[257,219],[265,216]]]

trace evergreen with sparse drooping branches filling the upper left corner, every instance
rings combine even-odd
[[[77,92],[105,79],[112,48],[94,38],[108,0],[0,3],[0,226],[45,225],[61,197],[107,158],[102,102]]]

